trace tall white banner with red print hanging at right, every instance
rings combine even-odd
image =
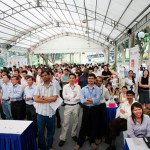
[[[133,70],[138,75],[139,68],[139,47],[130,48],[130,70]]]

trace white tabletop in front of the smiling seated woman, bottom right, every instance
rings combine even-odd
[[[149,150],[143,138],[126,138],[129,150]]]

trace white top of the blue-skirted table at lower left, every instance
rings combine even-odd
[[[22,134],[32,121],[0,120],[0,133]]]

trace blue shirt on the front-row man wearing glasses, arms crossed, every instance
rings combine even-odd
[[[91,98],[92,104],[85,104],[86,98]],[[99,105],[101,101],[101,91],[98,86],[94,85],[92,89],[89,88],[89,85],[85,86],[81,90],[81,103],[85,106],[95,106]]]

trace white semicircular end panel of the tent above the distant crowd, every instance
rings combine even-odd
[[[63,36],[38,46],[34,53],[101,52],[103,47],[83,38]]]

